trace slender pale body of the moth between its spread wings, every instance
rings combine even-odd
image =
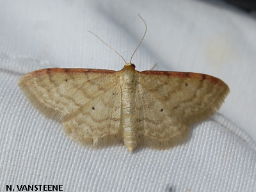
[[[120,71],[120,86],[122,93],[121,127],[124,144],[130,151],[137,147],[138,134],[136,132],[136,84],[139,72],[131,65]]]

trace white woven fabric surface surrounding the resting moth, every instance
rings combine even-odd
[[[68,139],[17,86],[47,67],[200,72],[230,94],[220,113],[171,150],[95,150]],[[256,191],[256,20],[220,1],[0,1],[0,187],[63,184],[64,191]],[[232,123],[234,122],[234,123]],[[247,132],[247,134],[246,134]],[[249,136],[250,135],[250,136]],[[252,138],[254,139],[252,139]]]

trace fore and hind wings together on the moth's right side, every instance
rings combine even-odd
[[[184,140],[189,125],[212,115],[228,92],[227,84],[204,74],[140,72],[137,113],[144,142],[168,148]]]

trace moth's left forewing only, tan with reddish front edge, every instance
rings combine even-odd
[[[90,102],[91,97],[97,97],[99,90],[110,88],[106,81],[113,78],[113,70],[44,68],[25,74],[18,84],[40,111],[62,118]]]

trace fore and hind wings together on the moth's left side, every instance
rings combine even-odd
[[[24,75],[19,86],[35,106],[59,118],[79,143],[100,146],[121,140],[121,90],[113,70],[46,68]]]

